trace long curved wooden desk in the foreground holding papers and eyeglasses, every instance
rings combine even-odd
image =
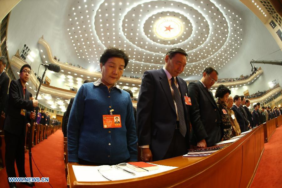
[[[78,182],[68,164],[71,188],[77,187],[248,187],[264,150],[264,127],[260,125],[236,142],[208,157],[182,156],[155,161],[177,166],[174,170],[130,180]]]

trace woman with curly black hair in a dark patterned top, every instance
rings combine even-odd
[[[215,93],[215,97],[217,98],[217,107],[220,112],[221,122],[223,127],[223,140],[228,140],[232,138],[232,126],[230,122],[230,113],[228,113],[228,109],[226,106],[227,99],[231,91],[225,87],[224,85],[219,85],[217,87],[217,91]]]

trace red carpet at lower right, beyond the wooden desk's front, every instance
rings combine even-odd
[[[264,144],[264,153],[259,162],[251,188],[282,187],[281,138],[282,125],[276,128],[269,142]]]

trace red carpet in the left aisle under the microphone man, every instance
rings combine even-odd
[[[48,139],[43,140],[32,148],[33,159],[44,177],[49,177],[49,183],[54,187],[66,188],[65,164],[64,164],[64,136],[59,129],[51,134]],[[34,163],[32,164],[34,177],[42,177]],[[18,172],[16,170],[18,175]],[[25,153],[25,173],[30,177],[29,154]],[[16,183],[17,187],[27,188],[29,186]],[[0,187],[9,188],[7,183],[6,169],[0,171]],[[48,187],[48,183],[35,183],[35,187]]]

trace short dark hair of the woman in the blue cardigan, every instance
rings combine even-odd
[[[102,65],[105,65],[107,60],[112,57],[122,58],[125,63],[124,68],[126,68],[128,61],[129,61],[128,54],[124,50],[119,50],[118,48],[115,48],[115,47],[108,47],[103,52],[103,54],[100,57],[100,63],[102,63]]]

